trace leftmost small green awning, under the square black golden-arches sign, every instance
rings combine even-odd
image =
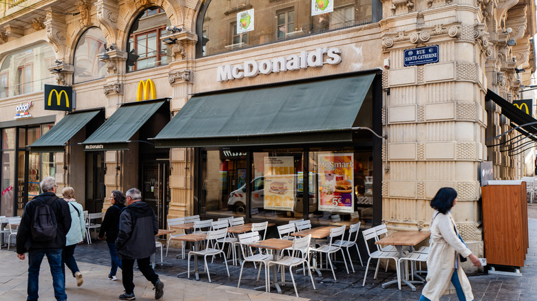
[[[34,153],[59,153],[65,150],[65,144],[92,121],[101,110],[67,114],[52,129],[30,145]]]

